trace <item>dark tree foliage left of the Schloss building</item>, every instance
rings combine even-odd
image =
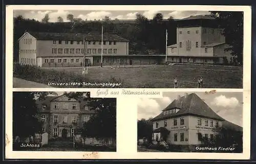
[[[13,136],[30,136],[41,130],[35,98],[43,100],[54,92],[13,92]]]

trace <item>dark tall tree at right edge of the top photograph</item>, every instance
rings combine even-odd
[[[211,15],[218,21],[219,28],[224,29],[223,35],[230,47],[234,59],[243,64],[243,12],[238,11],[211,11]],[[233,62],[236,64],[236,62]]]

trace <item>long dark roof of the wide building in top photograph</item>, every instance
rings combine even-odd
[[[83,37],[88,41],[101,41],[101,35],[92,33],[92,34],[82,34],[82,33],[38,33],[38,32],[27,32],[37,40],[83,40]],[[127,39],[124,39],[116,34],[104,34],[103,41],[123,41],[127,42]]]

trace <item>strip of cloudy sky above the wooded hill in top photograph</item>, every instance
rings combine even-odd
[[[74,18],[82,20],[102,20],[105,16],[111,19],[136,19],[136,13],[143,14],[148,19],[152,19],[156,13],[162,13],[164,19],[172,16],[175,19],[185,18],[192,15],[207,15],[208,11],[89,11],[89,10],[14,10],[14,17],[22,15],[26,19],[35,19],[41,21],[46,14],[49,14],[50,22],[56,22],[57,17],[62,17],[63,21],[67,20],[68,14],[73,14]]]

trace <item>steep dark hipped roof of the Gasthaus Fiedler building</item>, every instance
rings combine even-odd
[[[179,117],[184,115],[201,116],[216,120],[224,121],[222,117],[217,115],[197,94],[191,93],[187,96],[175,99],[163,111],[173,108],[180,110],[176,114],[163,115],[163,112],[152,119],[152,121],[163,120],[167,118]]]

